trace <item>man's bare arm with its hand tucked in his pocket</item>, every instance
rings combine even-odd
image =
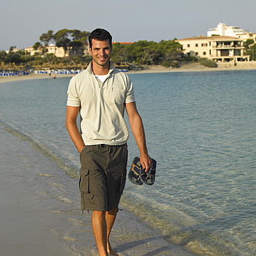
[[[68,134],[75,144],[77,151],[80,153],[85,145],[77,127],[76,119],[78,113],[79,107],[66,106],[66,129],[68,130]]]

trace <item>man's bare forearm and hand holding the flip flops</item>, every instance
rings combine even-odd
[[[152,159],[147,153],[146,137],[143,127],[143,120],[140,118],[135,102],[125,103],[125,109],[129,117],[131,131],[140,150],[140,163],[145,168],[145,172],[152,167]]]

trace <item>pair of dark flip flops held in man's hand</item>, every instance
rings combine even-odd
[[[147,172],[140,164],[140,158],[136,156],[131,163],[128,179],[136,185],[153,185],[156,179],[156,160],[152,158],[153,166]]]

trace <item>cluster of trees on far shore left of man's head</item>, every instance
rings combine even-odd
[[[11,46],[10,51],[0,51],[1,64],[14,64],[17,66],[25,66],[33,68],[33,66],[56,66],[74,64],[84,64],[89,61],[88,56],[80,55],[88,42],[89,32],[81,30],[68,30],[66,28],[58,30],[54,33],[53,30],[48,30],[39,37],[39,41],[35,42],[33,48],[35,54],[30,55],[28,51],[15,51],[16,46]],[[68,57],[56,57],[55,53],[48,53],[50,44],[64,49],[64,55],[72,49],[72,55]],[[2,65],[3,66],[3,65]]]

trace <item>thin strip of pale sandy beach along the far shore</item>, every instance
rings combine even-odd
[[[128,71],[129,74],[143,74],[143,73],[176,73],[176,72],[209,72],[209,71],[247,71],[247,70],[256,70],[254,67],[226,67],[226,68],[207,68],[200,65],[199,63],[194,64],[184,64],[180,68],[167,68],[161,65],[152,65],[146,66],[145,69],[139,71]],[[61,77],[72,77],[71,74],[67,75],[56,75],[56,78]],[[3,82],[15,82],[20,80],[33,80],[33,79],[53,79],[49,77],[48,74],[35,74],[31,73],[30,75],[23,76],[10,76],[10,77],[0,77],[0,84]]]

